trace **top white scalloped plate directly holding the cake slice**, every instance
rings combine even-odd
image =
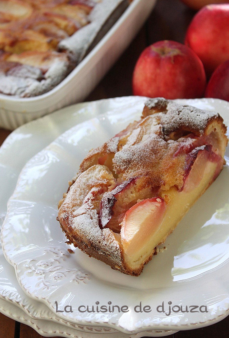
[[[224,101],[181,102],[217,110],[229,122],[229,104]],[[142,101],[140,106],[142,109]],[[53,311],[55,301],[60,310],[72,306],[72,313],[58,313],[68,321],[103,325],[124,333],[203,327],[228,315],[228,166],[168,238],[168,250],[156,256],[138,278],[112,271],[78,249],[74,255],[68,254],[55,220],[61,192],[87,151],[138,118],[141,109],[132,112],[122,108],[78,125],[27,163],[8,203],[3,224],[5,256],[15,266],[18,280],[30,297],[46,303]],[[78,311],[80,305],[91,309],[96,301],[101,305],[108,301],[128,305],[130,311],[123,314]],[[150,314],[134,311],[140,301],[143,306],[151,306]],[[208,312],[177,312],[167,316],[156,311],[163,301],[166,312],[169,301],[183,308],[206,306]]]

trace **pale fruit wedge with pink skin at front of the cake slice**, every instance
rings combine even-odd
[[[133,255],[158,230],[165,209],[165,201],[161,197],[153,197],[135,204],[125,213],[121,242],[126,255]]]

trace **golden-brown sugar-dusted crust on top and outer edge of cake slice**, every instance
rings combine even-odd
[[[153,196],[159,187],[165,195],[171,187],[182,190],[187,154],[209,144],[207,147],[223,158],[228,142],[225,132],[218,113],[177,105],[163,98],[148,101],[141,120],[91,150],[81,163],[79,174],[69,183],[58,213],[69,242],[113,269],[139,275],[155,248],[143,263],[131,268],[125,261],[119,224],[115,226],[110,219],[119,220],[114,213],[125,212],[140,196],[148,198],[148,187]],[[129,191],[132,199],[128,199]],[[114,209],[114,205],[119,207]]]

